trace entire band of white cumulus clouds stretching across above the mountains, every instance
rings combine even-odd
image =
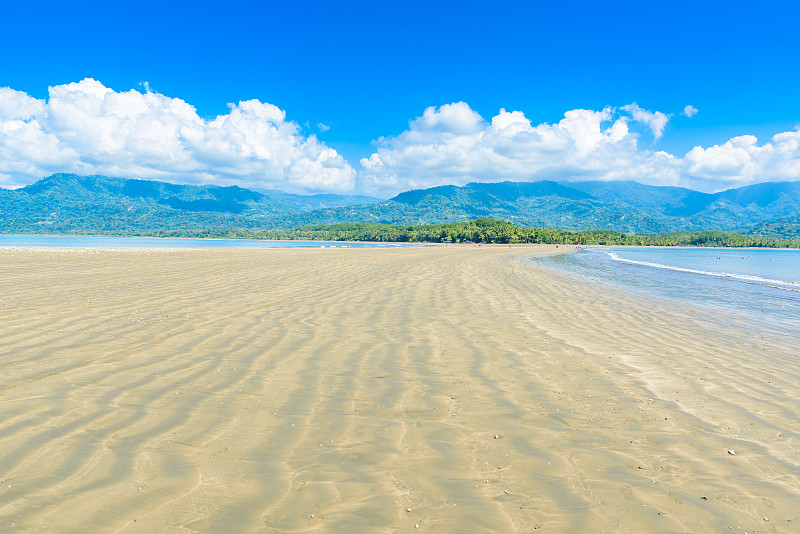
[[[635,180],[715,191],[800,180],[800,128],[763,144],[740,136],[673,155],[652,146],[670,115],[635,103],[574,109],[541,124],[505,109],[487,120],[465,102],[430,107],[404,132],[379,138],[356,173],[276,106],[247,100],[203,119],[183,100],[142,87],[116,92],[86,79],[51,87],[47,99],[0,88],[0,186],[54,172],[387,196],[471,181]]]

